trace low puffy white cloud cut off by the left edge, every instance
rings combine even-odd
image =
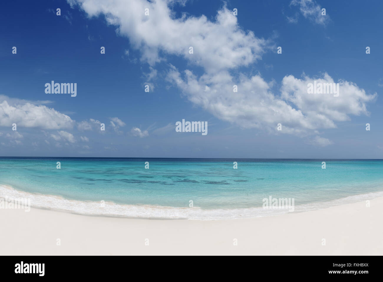
[[[40,127],[43,129],[70,129],[75,121],[68,115],[53,108],[35,105],[30,101],[9,99],[1,96],[0,126],[10,126],[15,123],[22,127]],[[8,103],[13,102],[13,104]],[[49,102],[49,101],[42,101]]]

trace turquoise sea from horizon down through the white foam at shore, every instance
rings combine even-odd
[[[249,218],[286,212],[263,209],[270,196],[303,211],[380,195],[383,160],[0,157],[5,185],[32,206],[85,214]]]

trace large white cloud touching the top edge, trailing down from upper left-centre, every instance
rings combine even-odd
[[[215,21],[210,21],[205,15],[174,18],[169,1],[128,2],[68,0],[72,7],[79,4],[89,17],[105,15],[107,23],[118,26],[118,33],[128,36],[131,45],[141,49],[142,59],[152,66],[163,60],[159,57],[163,50],[211,71],[236,68],[260,59],[266,47],[265,40],[256,38],[251,31],[243,31],[237,17],[226,7],[218,11]],[[149,8],[150,16],[144,15],[145,8]],[[193,54],[189,54],[190,46],[194,48]]]

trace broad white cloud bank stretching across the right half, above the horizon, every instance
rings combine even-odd
[[[184,72],[182,79],[177,69],[168,78],[182,89],[187,98],[208,110],[219,119],[235,123],[243,128],[260,128],[275,132],[278,123],[282,133],[305,135],[315,130],[335,128],[335,121],[349,120],[349,115],[368,115],[366,103],[375,99],[356,84],[340,81],[340,95],[308,94],[307,83],[313,79],[296,79],[285,76],[282,80],[281,97],[273,94],[270,83],[261,76],[247,78],[240,74],[235,80],[228,71],[216,75],[205,74],[200,78],[191,71]],[[318,82],[334,82],[324,74]],[[233,93],[233,85],[238,92]]]

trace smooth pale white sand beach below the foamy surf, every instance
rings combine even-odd
[[[383,197],[370,207],[217,221],[0,209],[0,223],[1,255],[383,255]]]

